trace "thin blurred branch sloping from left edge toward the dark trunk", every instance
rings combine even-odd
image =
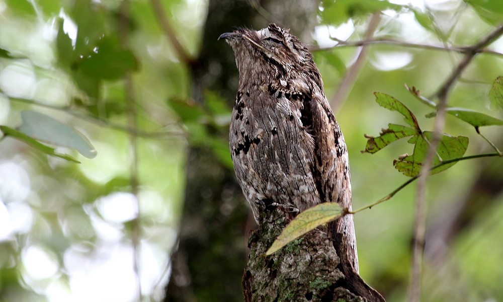
[[[15,98],[15,97],[10,97],[10,96],[7,96],[7,97],[9,98],[10,101],[20,102],[20,103],[25,103],[25,104],[30,104],[30,105],[34,105],[34,106],[40,106],[40,107],[44,107],[44,108],[49,108],[49,109],[65,112],[66,114],[69,114],[69,115],[74,116],[74,117],[81,119],[81,120],[88,121],[90,123],[94,123],[94,124],[97,124],[97,125],[100,125],[103,127],[114,129],[114,130],[119,130],[119,131],[126,132],[129,134],[135,134],[136,136],[140,136],[140,137],[144,137],[144,138],[156,138],[156,137],[162,137],[162,136],[182,136],[182,137],[186,136],[186,134],[183,132],[175,132],[175,131],[152,131],[152,132],[150,132],[150,131],[139,130],[139,129],[133,128],[131,126],[124,126],[124,125],[111,123],[111,122],[106,121],[101,118],[96,118],[96,117],[93,117],[90,115],[81,114],[76,111],[73,111],[70,106],[55,106],[55,105],[39,103],[39,102],[36,102],[33,100],[28,100],[28,99],[23,99],[23,98]],[[165,125],[165,126],[169,126],[169,125]]]

